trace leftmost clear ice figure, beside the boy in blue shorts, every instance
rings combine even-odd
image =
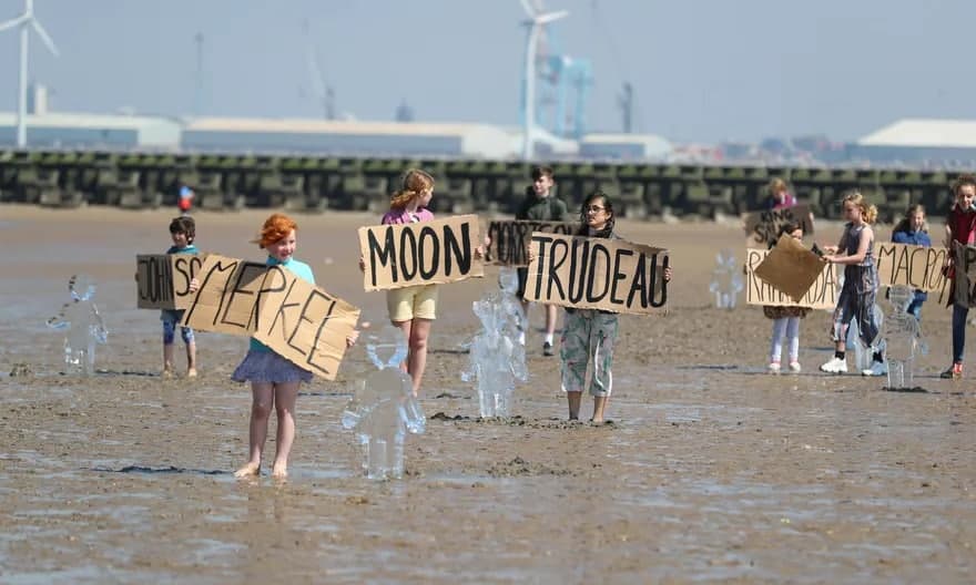
[[[58,315],[48,319],[48,327],[64,331],[65,373],[92,374],[95,371],[95,342],[105,343],[109,330],[95,306],[95,281],[88,275],[68,280],[71,300]]]

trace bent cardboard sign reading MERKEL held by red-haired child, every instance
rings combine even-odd
[[[292,363],[335,380],[359,309],[283,266],[211,254],[181,325],[253,336]]]

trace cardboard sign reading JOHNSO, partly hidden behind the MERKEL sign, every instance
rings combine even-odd
[[[193,294],[190,280],[205,254],[139,254],[135,256],[136,306],[140,309],[185,309]]]

